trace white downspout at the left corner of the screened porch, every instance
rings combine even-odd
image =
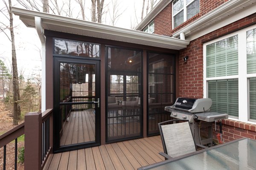
[[[42,63],[42,75],[41,75],[41,112],[46,110],[46,55],[45,55],[45,36],[44,29],[42,27],[41,17],[35,17],[35,29],[38,33],[38,37],[41,41],[41,63]]]

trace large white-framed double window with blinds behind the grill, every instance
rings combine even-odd
[[[204,43],[204,97],[211,111],[256,122],[256,26]]]

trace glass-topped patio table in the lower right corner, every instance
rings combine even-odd
[[[138,170],[255,170],[256,140],[241,138]]]

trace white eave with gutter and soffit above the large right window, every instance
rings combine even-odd
[[[173,34],[173,37],[178,38],[180,34],[184,33],[186,40],[192,41],[255,12],[256,0],[229,0],[188,26],[181,28]]]

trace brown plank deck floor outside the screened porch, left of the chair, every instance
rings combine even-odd
[[[44,170],[137,170],[163,161],[160,136],[51,154]]]

